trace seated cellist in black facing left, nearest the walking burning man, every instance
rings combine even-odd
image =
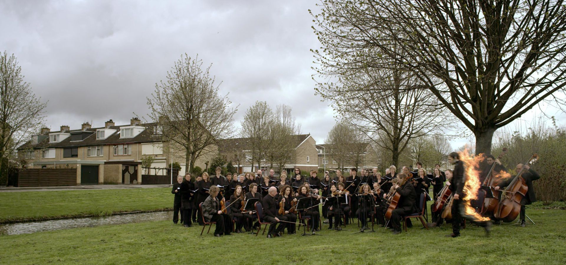
[[[413,184],[406,180],[405,173],[397,174],[397,184],[393,186],[393,189],[401,195],[399,202],[397,203],[397,208],[393,210],[391,215],[391,226],[393,228],[393,234],[401,233],[401,218],[402,216],[412,214],[416,212],[415,209],[415,198],[417,193],[415,193],[415,187]],[[405,180],[404,180],[405,179]],[[409,226],[409,224],[407,224]]]

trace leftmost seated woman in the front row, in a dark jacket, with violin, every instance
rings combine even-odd
[[[217,198],[218,193],[220,193],[220,189],[217,186],[211,186],[209,196],[202,205],[203,216],[206,221],[216,222],[215,237],[220,237],[222,234],[229,236],[232,231],[232,218],[220,210],[220,200]]]

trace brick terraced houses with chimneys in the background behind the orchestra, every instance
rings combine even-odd
[[[115,125],[113,120],[106,121],[104,127],[92,128],[83,123],[80,129],[61,126],[59,131],[42,128],[32,136],[32,140],[19,147],[19,158],[23,158],[27,168],[74,168],[76,184],[133,184],[142,183],[144,172],[141,161],[152,156],[152,168],[166,168],[177,162],[181,172],[185,171],[185,158],[181,151],[169,151],[168,143],[162,142],[156,123],[141,123],[132,118],[130,124]],[[325,145],[317,145],[311,134],[294,136],[294,155],[281,170],[291,171],[294,167],[301,170],[318,168],[336,169],[338,164],[331,154],[325,153]],[[271,166],[263,160],[258,164],[251,162],[248,148],[249,138],[230,138],[218,140],[209,148],[208,154],[200,157],[195,166],[207,168],[217,155],[232,162],[239,173],[253,172],[258,169],[268,170]],[[368,144],[363,154],[361,167],[375,167],[377,155]],[[349,166],[348,166],[349,167]],[[154,170],[155,171],[155,170]]]

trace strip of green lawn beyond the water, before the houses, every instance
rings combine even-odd
[[[0,222],[172,207],[170,188],[0,192]]]

